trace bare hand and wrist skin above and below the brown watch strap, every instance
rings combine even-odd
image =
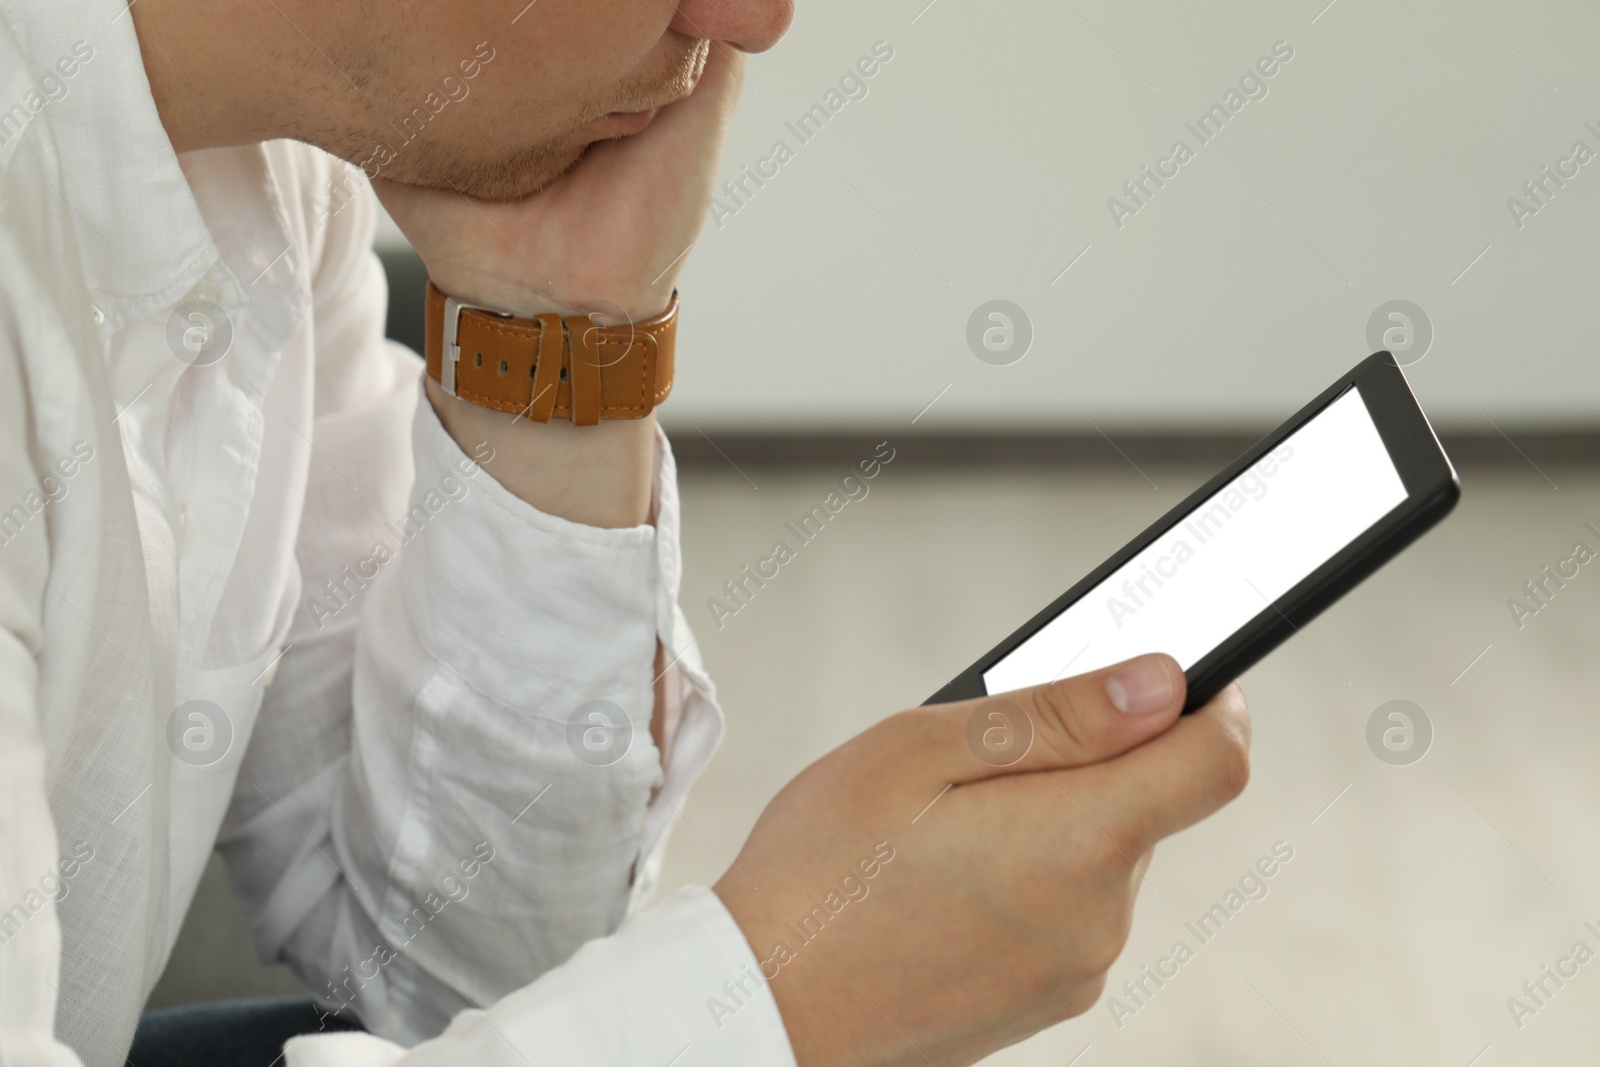
[[[440,290],[518,315],[638,322],[666,309],[706,210],[739,99],[744,53],[707,43],[694,91],[646,130],[603,141],[538,195],[507,203],[374,181]],[[654,416],[574,427],[445,395],[429,402],[464,450],[488,443],[494,478],[549,515],[590,526],[648,518]]]

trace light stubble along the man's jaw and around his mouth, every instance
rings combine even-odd
[[[710,42],[677,37],[675,45],[653,69],[618,83],[605,99],[586,102],[558,134],[533,144],[506,147],[459,134],[451,138],[446,126],[450,114],[445,112],[416,141],[395,149],[382,178],[406,186],[454,189],[475,200],[536,195],[576,166],[595,141],[605,139],[590,128],[606,115],[666,107],[693,93],[706,70]],[[472,98],[461,106],[470,107]]]

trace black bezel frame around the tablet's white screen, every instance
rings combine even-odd
[[[1448,515],[1461,498],[1461,482],[1456,470],[1411,394],[1405,373],[1389,352],[1374,352],[1362,360],[1355,370],[1296,411],[1288,422],[1261,438],[1226,470],[1184,498],[1181,504],[1051,601],[1011,637],[989,649],[926,702],[944,704],[987,696],[986,670],[1350,389],[1360,390],[1384,448],[1389,450],[1389,459],[1394,461],[1400,482],[1405,485],[1406,499],[1186,672],[1189,696],[1184,702],[1184,712],[1203,705],[1229,681],[1288,640],[1299,627],[1315,619],[1333,601],[1421,537]]]

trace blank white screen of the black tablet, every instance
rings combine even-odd
[[[1168,653],[1184,670],[1405,501],[1350,389],[984,672],[1021,689]]]

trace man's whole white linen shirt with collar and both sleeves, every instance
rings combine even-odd
[[[293,1067],[792,1065],[715,894],[645,909],[722,733],[666,440],[651,525],[512,496],[382,338],[352,168],[179,158],[122,0],[0,11],[0,1062],[122,1064],[216,846],[371,1032]]]

